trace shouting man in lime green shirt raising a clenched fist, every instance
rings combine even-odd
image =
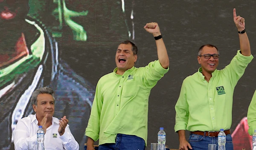
[[[158,60],[135,68],[137,46],[121,42],[116,50],[116,68],[102,76],[90,119],[85,131],[87,150],[144,150],[148,133],[148,97],[151,89],[169,70],[169,57],[157,23],[147,23],[145,30],[153,34]]]

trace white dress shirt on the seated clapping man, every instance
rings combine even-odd
[[[79,144],[70,132],[69,125],[62,136],[58,133],[59,119],[52,117],[52,125],[46,129],[44,135],[45,150],[79,150]],[[15,150],[27,150],[28,142],[37,143],[38,120],[36,115],[29,115],[17,122],[12,133]]]

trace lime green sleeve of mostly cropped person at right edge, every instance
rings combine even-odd
[[[252,101],[248,108],[247,122],[249,125],[248,133],[253,135],[254,130],[256,130],[256,91],[253,94]]]

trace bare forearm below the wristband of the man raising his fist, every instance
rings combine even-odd
[[[156,37],[154,35],[154,37]],[[157,45],[157,56],[161,66],[165,69],[169,67],[169,57],[167,54],[166,46],[163,42],[163,38],[156,40]]]

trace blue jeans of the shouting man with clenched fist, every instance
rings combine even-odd
[[[116,143],[101,144],[99,150],[145,150],[145,141],[138,136],[117,134]]]

